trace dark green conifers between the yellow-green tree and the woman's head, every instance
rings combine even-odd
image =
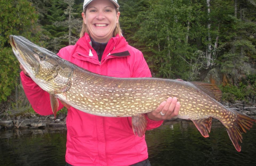
[[[39,13],[39,23],[45,31],[45,48],[54,53],[75,44],[82,27],[82,2],[79,0],[31,0]],[[69,20],[69,14],[71,19]],[[78,19],[79,18],[79,19]],[[71,34],[69,34],[69,29]],[[71,35],[71,36],[69,36]],[[69,38],[71,41],[69,41]],[[69,43],[71,42],[71,43]]]

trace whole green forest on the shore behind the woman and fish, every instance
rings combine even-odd
[[[255,103],[256,0],[118,0],[123,36],[153,77],[211,82]],[[83,0],[0,1],[0,115],[31,110],[9,35],[58,53],[82,27]]]

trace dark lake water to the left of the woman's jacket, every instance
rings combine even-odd
[[[0,132],[0,165],[64,166],[66,130],[7,130]]]

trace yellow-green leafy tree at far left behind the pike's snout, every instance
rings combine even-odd
[[[19,63],[12,53],[9,35],[23,35],[37,40],[40,28],[37,28],[35,8],[27,0],[0,1],[0,102],[6,101],[17,86]],[[32,38],[32,36],[34,36]]]

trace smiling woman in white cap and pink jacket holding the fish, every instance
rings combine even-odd
[[[58,55],[84,69],[113,77],[151,77],[142,53],[128,45],[119,27],[116,0],[85,0],[83,28],[75,45],[60,49]],[[52,114],[49,94],[26,76],[21,80],[33,109]],[[60,103],[59,109],[63,105]],[[147,130],[178,115],[180,103],[168,98],[156,110],[145,114]],[[145,136],[135,136],[131,117],[100,117],[74,108],[67,116],[67,165],[149,166]]]

